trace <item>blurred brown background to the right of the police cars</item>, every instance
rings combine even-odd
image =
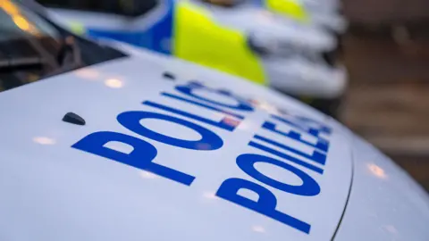
[[[429,190],[429,1],[343,0],[342,120]]]

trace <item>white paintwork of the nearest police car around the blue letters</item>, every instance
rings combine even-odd
[[[372,148],[367,150],[340,124],[243,79],[130,46],[122,48],[134,56],[0,94],[2,240],[330,240],[349,195],[353,165],[350,202],[336,240],[391,240],[379,230],[387,221],[394,227],[389,230],[404,233],[395,236],[397,240],[428,237],[427,195],[383,155]],[[163,79],[164,71],[174,73],[177,81]],[[144,100],[218,120],[219,115],[213,112],[159,96],[160,91],[173,92],[175,85],[189,79],[228,88],[264,103],[256,112],[246,114],[233,132],[201,124],[223,137],[224,146],[216,151],[189,151],[146,139],[158,149],[155,162],[197,178],[190,187],[71,148],[80,138],[100,130],[139,137],[122,128],[116,116],[132,110],[158,112],[140,104]],[[324,175],[307,171],[322,188],[320,195],[290,195],[258,183],[276,195],[279,210],[310,222],[310,235],[214,197],[224,179],[255,181],[240,171],[235,157],[251,151],[246,146],[248,141],[261,132],[260,125],[268,119],[268,112],[276,112],[277,108],[324,121],[334,129],[329,137],[332,147]],[[63,122],[65,112],[79,113],[87,125]],[[195,134],[156,121],[142,124],[175,137],[192,138]],[[285,138],[267,135],[298,147]],[[364,168],[373,162],[388,179],[374,179]],[[284,170],[266,166],[261,170],[285,181],[296,181]],[[395,212],[394,207],[400,212]],[[376,214],[376,218],[367,213]]]

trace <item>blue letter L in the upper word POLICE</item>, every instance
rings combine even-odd
[[[233,119],[231,119],[229,117],[225,117],[225,118],[223,118],[223,120],[221,120],[221,121],[218,122],[218,121],[209,120],[209,119],[200,117],[200,116],[195,115],[195,114],[191,114],[189,112],[182,112],[180,110],[174,109],[174,108],[166,106],[164,104],[157,104],[157,103],[154,103],[154,102],[151,102],[151,101],[145,101],[145,102],[143,102],[143,104],[146,104],[147,106],[152,106],[154,108],[158,108],[158,109],[161,109],[161,110],[164,110],[164,111],[167,111],[167,112],[172,112],[172,113],[180,114],[182,116],[185,116],[185,117],[188,117],[188,118],[191,118],[191,119],[194,119],[194,120],[198,120],[198,121],[210,124],[210,125],[212,125],[214,127],[226,129],[226,130],[229,130],[229,131],[234,130],[240,124],[240,121],[233,120]]]

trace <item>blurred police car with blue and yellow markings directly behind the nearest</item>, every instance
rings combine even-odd
[[[240,12],[197,1],[39,0],[55,21],[90,37],[133,46],[225,71],[310,99],[335,115],[347,86],[333,57],[334,37],[298,23],[275,21],[259,8]]]

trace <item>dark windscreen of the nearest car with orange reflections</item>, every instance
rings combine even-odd
[[[125,56],[76,37],[14,1],[0,1],[0,91]]]

